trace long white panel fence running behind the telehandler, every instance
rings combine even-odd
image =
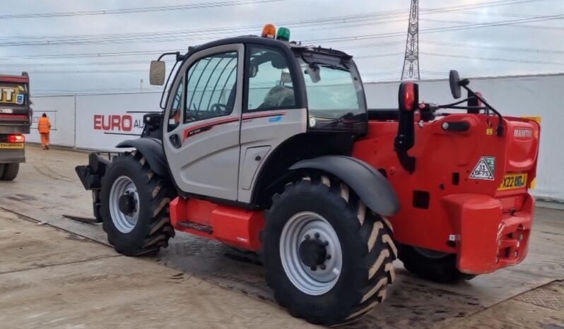
[[[542,117],[541,150],[536,196],[564,201],[564,137],[559,109],[564,74],[471,79],[502,114]],[[399,82],[365,83],[368,107],[396,108]],[[37,118],[47,113],[53,122],[52,144],[93,150],[116,150],[122,140],[135,138],[143,129],[143,114],[160,112],[160,93],[33,97],[33,129],[28,140],[39,142]],[[420,100],[452,102],[447,80],[420,82]],[[76,109],[76,113],[75,113]],[[75,122],[76,118],[76,122]],[[75,133],[76,129],[76,133]]]

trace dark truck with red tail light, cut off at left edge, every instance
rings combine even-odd
[[[25,162],[25,136],[30,133],[30,79],[0,75],[0,180],[18,176],[20,163]]]

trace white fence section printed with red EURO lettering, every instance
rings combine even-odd
[[[116,150],[143,131],[143,115],[160,112],[160,93],[76,97],[76,147]]]

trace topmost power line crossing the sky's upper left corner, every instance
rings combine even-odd
[[[0,15],[0,19],[8,20],[8,19],[16,19],[16,18],[52,18],[52,17],[115,15],[115,14],[124,14],[124,13],[148,13],[155,11],[182,11],[182,10],[216,8],[216,7],[225,7],[225,6],[240,6],[245,4],[263,4],[266,2],[276,2],[276,1],[283,1],[283,0],[233,0],[233,1],[201,2],[197,4],[184,4],[177,6],[105,9],[98,11],[64,11],[59,13],[16,13],[16,14]]]

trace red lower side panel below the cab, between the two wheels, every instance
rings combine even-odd
[[[262,211],[218,205],[197,199],[175,198],[170,202],[170,222],[178,231],[258,251],[264,227]]]

